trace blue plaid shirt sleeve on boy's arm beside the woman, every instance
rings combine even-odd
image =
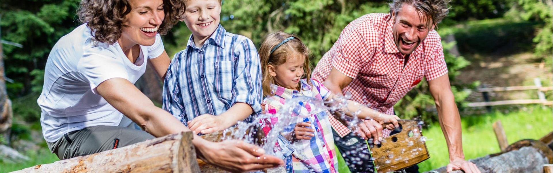
[[[165,82],[163,83],[163,106],[162,108],[168,111],[170,114],[179,119],[183,124],[186,124],[187,117],[184,110],[184,103],[182,102],[182,94],[179,85],[179,57],[182,52],[175,54],[173,62],[169,65],[167,69],[167,74],[165,75]]]

